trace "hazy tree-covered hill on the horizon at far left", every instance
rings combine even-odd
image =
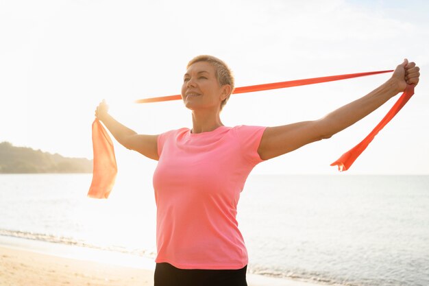
[[[0,143],[0,174],[21,173],[92,173],[93,160],[65,158],[29,147]]]

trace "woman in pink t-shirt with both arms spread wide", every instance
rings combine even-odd
[[[159,135],[136,134],[108,115],[95,116],[130,150],[158,160],[155,286],[247,285],[247,251],[236,222],[236,206],[255,165],[303,145],[328,139],[388,99],[419,82],[419,67],[404,60],[392,77],[325,117],[277,127],[223,126],[220,113],[234,90],[221,60],[197,56],[188,63],[182,99],[193,128]]]

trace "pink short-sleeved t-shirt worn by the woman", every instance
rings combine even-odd
[[[236,221],[245,180],[262,162],[265,127],[188,128],[158,136],[154,173],[157,263],[182,269],[241,269],[247,250]]]

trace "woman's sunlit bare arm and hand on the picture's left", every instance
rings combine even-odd
[[[137,134],[134,130],[123,126],[108,114],[108,105],[101,102],[95,110],[95,117],[108,128],[115,139],[125,148],[139,152],[147,158],[158,160],[158,135]]]

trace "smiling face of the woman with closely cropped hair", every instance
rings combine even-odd
[[[182,84],[182,99],[191,110],[220,109],[225,88],[219,85],[215,67],[208,62],[195,62],[186,71]]]

